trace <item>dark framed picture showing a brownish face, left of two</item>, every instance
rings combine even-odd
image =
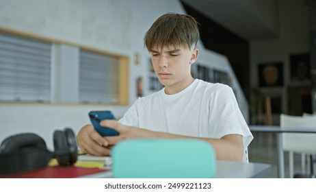
[[[258,65],[259,86],[283,86],[283,63],[267,62]]]

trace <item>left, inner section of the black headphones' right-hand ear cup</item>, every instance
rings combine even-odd
[[[55,158],[57,159],[58,165],[66,166],[69,165],[68,145],[66,141],[66,135],[60,130],[56,130],[53,135]]]

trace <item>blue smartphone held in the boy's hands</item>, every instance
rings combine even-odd
[[[111,128],[103,127],[100,125],[100,122],[104,119],[115,119],[113,113],[109,110],[102,111],[90,111],[89,117],[94,129],[101,134],[101,136],[116,136],[119,133]]]

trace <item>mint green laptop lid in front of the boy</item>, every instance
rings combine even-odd
[[[114,178],[215,178],[215,152],[201,140],[122,141],[111,156]]]

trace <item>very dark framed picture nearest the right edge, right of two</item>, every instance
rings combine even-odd
[[[306,82],[311,80],[311,58],[309,53],[291,54],[291,82]]]

